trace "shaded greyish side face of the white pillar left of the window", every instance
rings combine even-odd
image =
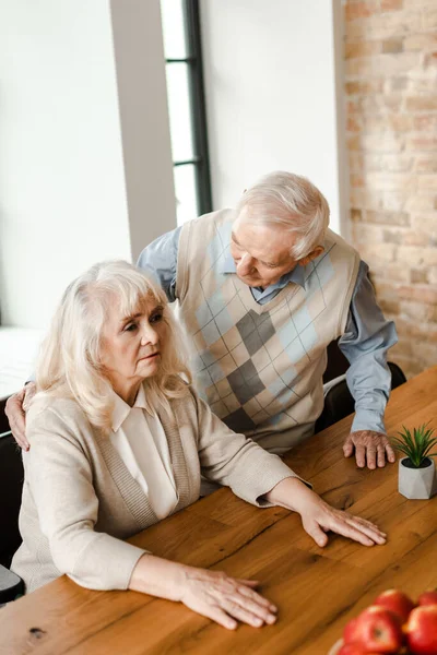
[[[111,0],[132,255],[176,227],[160,0]]]

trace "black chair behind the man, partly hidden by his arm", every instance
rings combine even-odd
[[[389,361],[388,366],[391,371],[391,389],[395,389],[397,386],[400,386],[406,382],[406,378],[402,369],[397,364]],[[316,421],[316,432],[320,432],[321,430],[329,428],[329,426],[332,426],[345,416],[349,416],[355,412],[355,402],[345,380],[345,372],[347,368],[347,359],[340,350],[338,343],[332,342],[328,346],[327,374],[323,376],[323,382],[331,382],[332,385],[324,395],[324,406],[321,415]],[[339,378],[336,378],[335,374],[339,376]],[[332,378],[331,376],[335,377]]]

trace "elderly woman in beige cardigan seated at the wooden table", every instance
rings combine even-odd
[[[366,546],[385,535],[226,428],[187,383],[182,353],[163,291],[130,264],[97,264],[68,287],[37,367],[12,570],[27,592],[66,573],[88,588],[179,600],[229,629],[273,623],[255,582],[123,539],[194,502],[201,473],[256,505],[300,513],[320,546],[329,529]]]

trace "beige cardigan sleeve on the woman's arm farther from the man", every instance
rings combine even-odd
[[[23,454],[26,484],[55,565],[87,588],[128,588],[145,551],[94,531],[98,499],[79,440],[50,408],[28,422],[31,449]]]

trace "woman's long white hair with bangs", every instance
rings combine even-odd
[[[164,308],[167,338],[158,372],[144,380],[147,409],[154,413],[161,405],[169,410],[168,398],[187,393],[180,374],[191,382],[181,331],[161,287],[123,261],[95,264],[67,287],[40,349],[37,391],[73,397],[91,424],[108,431],[114,403],[101,364],[103,327],[111,307],[133,315],[151,298]]]

